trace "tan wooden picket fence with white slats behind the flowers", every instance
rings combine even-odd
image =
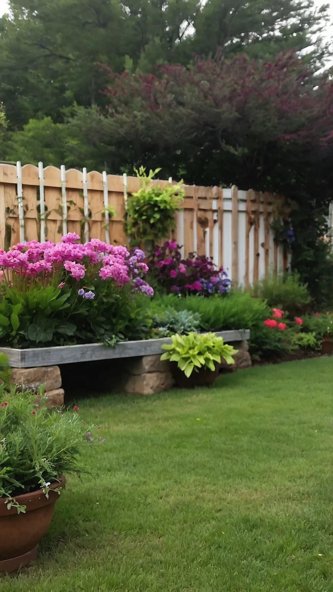
[[[154,182],[161,187],[168,183]],[[67,232],[78,233],[84,242],[98,238],[126,244],[126,202],[137,189],[139,179],[126,175],[43,168],[43,163],[38,168],[0,165],[0,248],[33,239],[59,242]],[[223,265],[235,285],[245,287],[288,267],[287,252],[271,229],[278,215],[278,195],[240,191],[236,186],[184,185],[184,189],[173,233],[183,257],[193,251],[210,256],[217,266]],[[107,206],[116,215],[110,217]]]

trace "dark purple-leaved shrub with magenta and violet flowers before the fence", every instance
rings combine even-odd
[[[187,259],[181,259],[180,246],[166,241],[162,247],[156,247],[149,269],[165,292],[175,294],[225,294],[231,281],[224,269],[217,269],[213,259],[204,255],[190,253]]]

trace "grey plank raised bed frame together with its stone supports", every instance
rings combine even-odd
[[[216,333],[226,343],[233,343],[239,349],[235,356],[235,368],[251,365],[248,353],[249,330],[239,329]],[[119,359],[117,372],[110,375],[110,390],[130,394],[153,394],[168,390],[174,385],[169,362],[161,362],[164,343],[171,343],[170,337],[143,339],[117,343],[115,348],[100,343],[55,346],[50,348],[14,349],[0,348],[6,353],[12,368],[14,384],[44,384],[50,405],[62,405],[64,391],[61,387],[59,365],[98,360]],[[108,378],[108,374],[106,373]]]

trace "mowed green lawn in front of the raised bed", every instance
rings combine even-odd
[[[333,591],[332,383],[318,358],[79,401],[94,474],[1,592]]]

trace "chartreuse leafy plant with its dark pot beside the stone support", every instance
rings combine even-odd
[[[228,364],[235,363],[232,356],[237,350],[223,343],[223,338],[216,337],[216,333],[176,333],[171,340],[171,345],[162,345],[167,351],[161,360],[171,362],[172,374],[179,387],[213,384],[219,374],[221,358]]]

